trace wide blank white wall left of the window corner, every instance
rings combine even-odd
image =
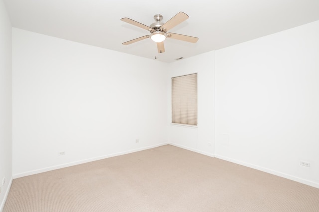
[[[12,33],[14,177],[167,143],[166,64]]]

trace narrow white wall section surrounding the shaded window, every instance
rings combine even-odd
[[[171,123],[171,78],[192,73],[197,75],[198,126],[169,125],[171,144],[209,156],[214,155],[214,74],[215,52],[204,53],[169,64],[168,120]]]

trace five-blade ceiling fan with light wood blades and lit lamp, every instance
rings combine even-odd
[[[146,38],[151,38],[154,42],[156,42],[158,52],[163,53],[165,52],[164,40],[166,38],[173,38],[177,40],[196,43],[198,41],[198,38],[196,37],[167,32],[168,30],[172,29],[173,27],[177,26],[178,24],[180,24],[181,22],[185,21],[188,18],[189,16],[186,15],[184,12],[179,12],[177,13],[177,15],[172,17],[169,21],[167,21],[166,23],[163,23],[161,22],[161,20],[163,19],[163,16],[158,14],[158,15],[154,15],[155,22],[152,23],[150,26],[144,25],[130,18],[122,18],[121,21],[140,27],[142,29],[146,29],[151,33],[150,35],[145,35],[139,38],[135,38],[133,40],[124,42],[122,44],[129,45],[137,41],[144,40]]]

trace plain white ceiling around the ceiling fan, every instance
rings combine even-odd
[[[13,27],[119,52],[173,62],[319,20],[319,0],[4,0]],[[128,17],[145,25],[153,16],[168,21],[178,12],[189,19],[170,32],[199,37],[197,43],[166,39],[166,52],[148,35],[120,21]]]

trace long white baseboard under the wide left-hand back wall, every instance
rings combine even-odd
[[[113,153],[113,154],[103,155],[103,156],[99,156],[99,157],[93,157],[93,158],[89,158],[89,159],[85,159],[85,160],[79,160],[79,161],[75,161],[75,162],[71,162],[71,163],[65,163],[65,164],[51,166],[51,167],[47,167],[47,168],[36,169],[36,170],[32,170],[32,171],[18,173],[18,174],[13,175],[13,179],[16,179],[19,177],[25,177],[25,176],[29,176],[29,175],[33,175],[33,174],[39,174],[39,173],[43,173],[43,172],[47,172],[47,171],[52,171],[52,170],[56,170],[56,169],[60,169],[60,168],[65,168],[65,167],[69,167],[69,166],[79,165],[79,164],[83,164],[83,163],[88,163],[88,162],[92,162],[92,161],[96,161],[96,160],[102,160],[102,159],[106,159],[109,157],[115,157],[115,156],[133,153],[133,152],[143,151],[146,149],[151,149],[151,148],[155,148],[155,147],[159,147],[159,146],[163,146],[163,145],[168,145],[168,144],[169,143],[161,143],[161,144],[146,146],[146,147],[142,147],[142,148],[131,149],[128,151],[122,151],[122,152],[117,152],[117,153]]]

